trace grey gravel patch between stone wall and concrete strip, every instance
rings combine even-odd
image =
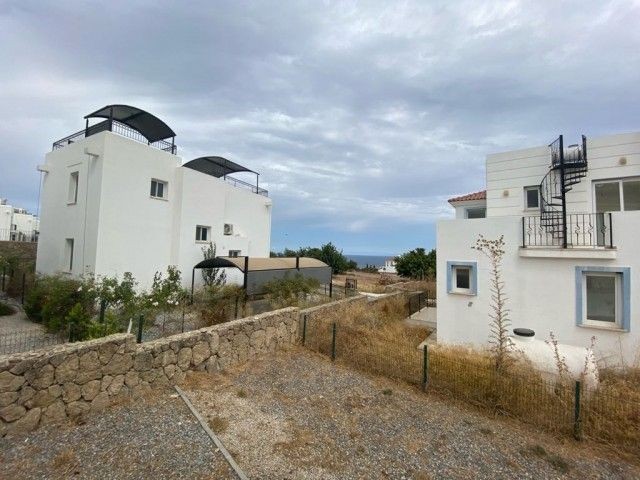
[[[112,407],[85,424],[0,439],[2,479],[235,478],[173,390]]]

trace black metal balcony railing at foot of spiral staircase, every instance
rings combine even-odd
[[[563,230],[552,220],[522,217],[523,247],[563,248]],[[567,214],[566,248],[613,248],[611,213]]]

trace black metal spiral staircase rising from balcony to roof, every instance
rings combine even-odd
[[[587,138],[564,147],[562,135],[549,145],[551,166],[540,183],[540,225],[554,243],[567,248],[567,192],[587,175]]]

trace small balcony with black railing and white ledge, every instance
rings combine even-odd
[[[523,257],[615,258],[611,213],[566,215],[566,242],[562,224],[538,215],[522,217]],[[563,253],[560,253],[563,252]]]

